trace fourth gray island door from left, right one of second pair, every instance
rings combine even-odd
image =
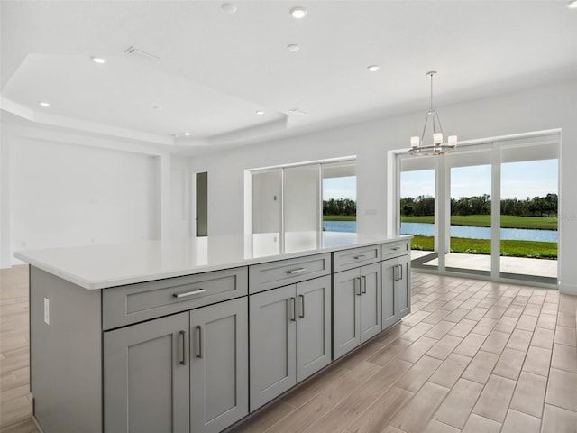
[[[331,277],[297,284],[297,382],[330,364]]]

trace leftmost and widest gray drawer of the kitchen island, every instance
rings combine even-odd
[[[105,329],[234,299],[248,293],[246,267],[103,290]]]

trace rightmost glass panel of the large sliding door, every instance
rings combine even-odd
[[[557,280],[557,143],[519,143],[501,150],[502,278]]]

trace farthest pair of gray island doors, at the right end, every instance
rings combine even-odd
[[[411,312],[408,254],[382,262],[382,328],[394,325]]]

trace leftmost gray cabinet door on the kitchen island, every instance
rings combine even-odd
[[[105,332],[106,433],[189,431],[187,342],[188,312]]]

